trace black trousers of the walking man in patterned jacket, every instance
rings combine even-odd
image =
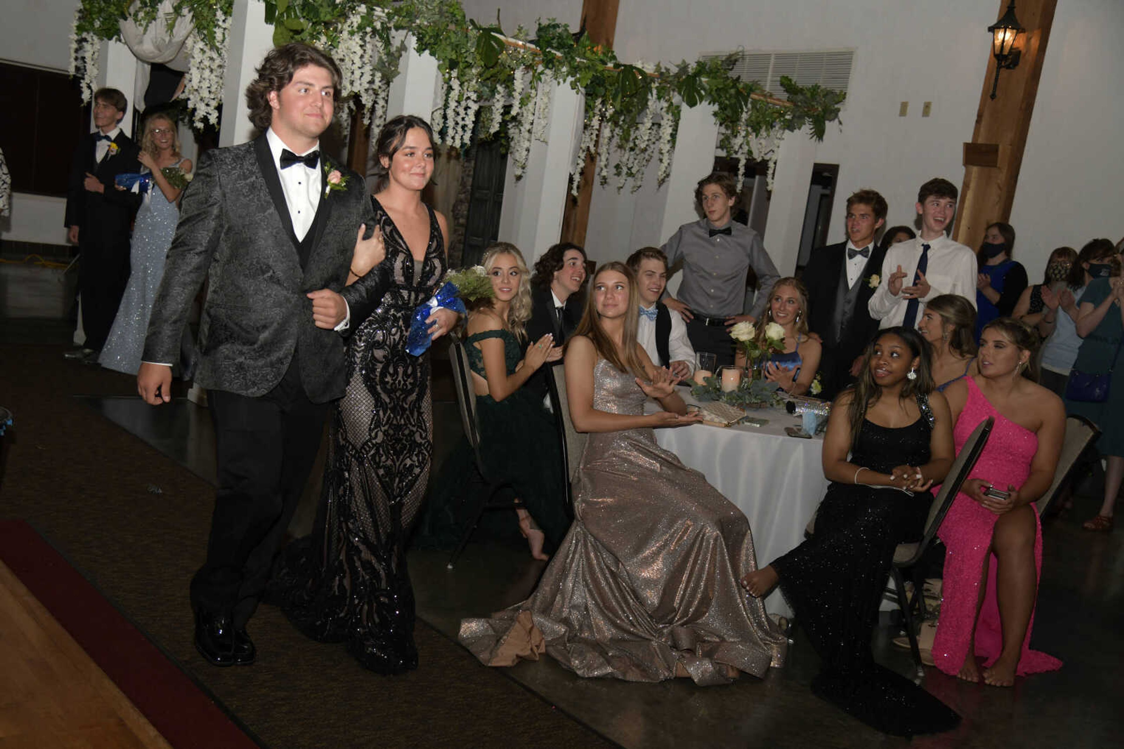
[[[329,403],[308,400],[296,355],[265,395],[212,390],[208,403],[218,492],[207,561],[191,579],[191,604],[229,615],[242,628],[269,582],[273,557],[316,459]]]

